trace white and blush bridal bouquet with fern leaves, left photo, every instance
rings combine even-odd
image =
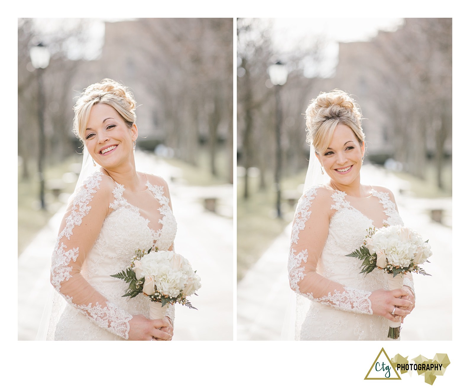
[[[122,296],[133,298],[141,293],[149,296],[150,319],[163,319],[168,306],[175,302],[196,309],[187,297],[197,295],[201,278],[186,258],[173,251],[138,249],[131,265],[111,276],[129,283]]]

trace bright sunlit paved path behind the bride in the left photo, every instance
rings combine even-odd
[[[233,186],[195,187],[172,183],[178,171],[150,155],[136,154],[137,169],[162,176],[170,186],[173,212],[178,222],[175,249],[187,257],[201,276],[198,310],[176,305],[174,340],[233,339],[233,220],[204,210],[208,194],[219,198],[223,214],[233,214]],[[65,208],[18,258],[18,340],[34,340],[49,300],[50,257]]]

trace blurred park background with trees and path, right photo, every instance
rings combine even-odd
[[[309,156],[303,115],[334,88],[365,117],[362,182],[389,187],[433,248],[402,338],[451,339],[452,19],[239,18],[236,71],[237,339],[281,339]],[[414,331],[436,304],[439,327]]]

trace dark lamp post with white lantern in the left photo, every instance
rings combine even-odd
[[[49,65],[50,53],[47,47],[42,43],[31,47],[31,64],[37,69],[38,77],[38,120],[39,120],[39,154],[38,154],[38,174],[39,174],[39,200],[41,209],[46,209],[44,200],[44,151],[46,147],[46,135],[44,132],[44,90],[43,90],[43,72]]]

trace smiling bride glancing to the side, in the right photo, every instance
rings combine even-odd
[[[387,319],[414,309],[411,274],[386,290],[383,272],[360,273],[347,257],[369,227],[403,225],[390,190],[364,185],[364,133],[357,103],[343,91],[321,93],[306,110],[310,164],[292,226],[290,287],[298,294],[296,340],[385,340]],[[313,185],[315,164],[329,182]],[[316,180],[318,182],[318,180]]]

